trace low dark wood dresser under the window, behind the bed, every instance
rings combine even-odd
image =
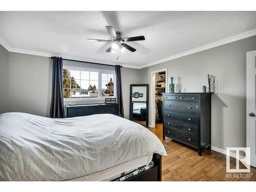
[[[81,104],[66,105],[66,107],[68,118],[103,113],[119,115],[119,104]]]

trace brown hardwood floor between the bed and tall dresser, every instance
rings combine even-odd
[[[162,124],[149,128],[162,141],[168,156],[162,157],[162,181],[256,181],[256,168],[251,167],[249,177],[226,176],[226,155],[203,150],[202,156],[194,148],[165,137],[162,139]],[[231,168],[236,159],[231,158]],[[242,173],[243,174],[243,173]],[[228,177],[229,176],[229,177]]]

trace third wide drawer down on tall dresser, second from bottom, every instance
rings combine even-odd
[[[185,124],[178,121],[172,121],[169,119],[164,119],[164,127],[173,127],[173,128],[180,129],[192,134],[198,133],[198,126]]]

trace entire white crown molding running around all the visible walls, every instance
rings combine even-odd
[[[240,33],[238,35],[234,35],[219,41],[215,41],[212,42],[210,44],[195,48],[195,49],[191,49],[182,53],[178,53],[176,55],[172,55],[154,62],[150,62],[147,63],[145,65],[142,66],[134,66],[134,65],[130,65],[127,63],[118,63],[119,65],[122,65],[125,68],[133,68],[133,69],[143,69],[146,67],[150,67],[150,66],[154,66],[157,65],[159,63],[162,62],[166,62],[169,60],[174,60],[180,57],[184,57],[186,55],[190,55],[193,53],[198,53],[207,49],[211,49],[211,48],[215,48],[218,46],[222,46],[225,44],[229,44],[230,42],[233,41],[237,41],[237,40],[241,40],[247,37],[251,37],[256,35],[256,29],[250,30],[250,31],[246,31],[244,33]],[[32,51],[32,50],[26,50],[26,49],[17,49],[17,48],[12,48],[1,36],[0,36],[0,44],[7,49],[9,52],[14,52],[14,53],[23,53],[23,54],[29,54],[29,55],[37,55],[37,56],[42,56],[42,57],[52,57],[52,56],[58,56],[58,57],[63,57],[66,59],[73,59],[73,60],[81,60],[81,61],[86,61],[86,62],[96,62],[96,63],[101,63],[101,64],[106,64],[106,65],[113,65],[115,66],[117,63],[116,62],[111,62],[111,61],[104,61],[104,60],[98,60],[98,59],[90,59],[90,58],[86,58],[86,57],[76,57],[76,56],[70,56],[70,55],[58,55],[58,54],[54,54],[54,53],[46,53],[46,52],[39,52],[39,51]]]

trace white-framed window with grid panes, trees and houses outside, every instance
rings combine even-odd
[[[114,71],[63,67],[63,98],[113,97],[114,80]]]

